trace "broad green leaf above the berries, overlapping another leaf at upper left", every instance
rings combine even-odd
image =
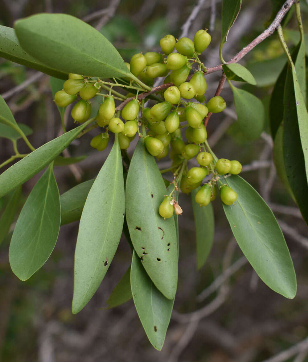
[[[67,14],[37,14],[15,22],[20,45],[35,59],[67,73],[133,77],[115,47],[97,30]]]

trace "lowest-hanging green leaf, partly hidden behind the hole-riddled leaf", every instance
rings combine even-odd
[[[135,251],[131,266],[131,286],[135,307],[147,338],[160,351],[170,322],[174,298],[167,299],[155,287]]]

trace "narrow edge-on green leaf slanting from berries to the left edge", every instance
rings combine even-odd
[[[86,127],[86,123],[43,144],[0,175],[0,197],[17,188],[46,167]]]

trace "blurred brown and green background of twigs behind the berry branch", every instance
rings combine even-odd
[[[304,29],[308,29],[308,4],[301,0]],[[212,42],[202,54],[205,66],[219,64],[221,36],[220,0],[205,0],[193,20],[188,36],[201,28],[210,28]],[[166,34],[180,37],[181,26],[196,1],[188,0],[0,0],[0,25],[13,26],[14,20],[39,12],[67,13],[95,26],[118,49],[125,61],[136,52],[159,51],[159,39]],[[105,13],[100,10],[107,9]],[[215,10],[215,11],[214,11]],[[269,24],[269,1],[244,0],[241,12],[224,47],[224,58],[236,52],[260,34]],[[292,48],[299,40],[295,16],[289,16],[285,36]],[[78,37],[78,34],[76,34]],[[306,51],[308,51],[308,37]],[[307,53],[306,53],[307,54]],[[254,75],[257,86],[237,84],[256,94],[268,108],[270,93],[286,62],[276,34],[255,47],[241,61]],[[220,72],[206,77],[207,97],[214,95]],[[24,87],[23,82],[35,81]],[[55,138],[61,129],[60,116],[52,102],[49,77],[0,58],[0,94],[5,98],[17,122],[29,125],[35,147]],[[23,85],[19,91],[19,85]],[[234,111],[233,97],[226,84],[222,97],[227,109],[211,117],[209,142],[219,157],[238,159],[245,165],[243,177],[264,197],[277,216],[285,234],[298,279],[293,300],[275,294],[244,263],[230,278],[204,300],[197,296],[241,256],[221,203],[214,202],[215,239],[208,262],[196,270],[195,231],[190,195],[180,195],[184,210],[180,217],[179,285],[175,311],[171,317],[161,352],[147,341],[132,300],[112,310],[106,309],[110,292],[127,269],[131,252],[121,239],[119,249],[102,285],[90,303],[77,315],[70,311],[73,289],[73,257],[77,223],[61,228],[54,252],[47,263],[28,281],[21,282],[10,270],[8,246],[12,233],[0,246],[0,360],[3,362],[79,362],[79,361],[207,361],[258,362],[297,345],[308,336],[308,233],[296,205],[276,175],[272,163],[272,142],[268,121],[261,138],[249,141],[241,134]],[[97,102],[95,107],[98,107]],[[68,107],[69,108],[69,107]],[[67,120],[72,119],[67,111]],[[71,156],[88,155],[71,167],[56,167],[60,193],[80,181],[96,176],[108,155],[91,150],[89,141],[97,130],[69,147]],[[111,144],[111,142],[110,142]],[[110,145],[109,145],[110,146]],[[20,152],[27,152],[18,141]],[[132,146],[129,154],[133,152]],[[0,138],[0,163],[12,154],[12,144]],[[159,168],[168,167],[164,159]],[[41,174],[41,173],[40,173]],[[20,209],[40,174],[23,186]],[[171,175],[170,175],[171,176]],[[169,177],[170,177],[169,176]],[[136,195],[138,197],[138,195]],[[0,199],[0,212],[9,195]],[[188,321],[180,313],[193,312],[220,304]],[[204,309],[203,309],[204,310]],[[275,361],[308,361],[304,352]]]

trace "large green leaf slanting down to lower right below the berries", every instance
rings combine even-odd
[[[266,285],[286,298],[294,298],[295,271],[273,212],[243,178],[221,180],[238,194],[234,205],[223,204],[223,209],[245,257]]]

